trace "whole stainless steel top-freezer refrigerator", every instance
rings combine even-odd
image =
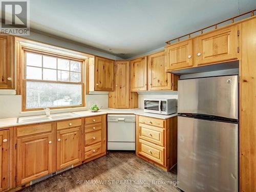
[[[178,187],[238,191],[238,75],[178,81]]]

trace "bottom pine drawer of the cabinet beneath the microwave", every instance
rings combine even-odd
[[[164,165],[164,147],[139,139],[139,154]]]

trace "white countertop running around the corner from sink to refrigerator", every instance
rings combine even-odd
[[[65,120],[65,119],[75,119],[75,118],[79,118],[79,117],[88,117],[88,116],[104,115],[104,114],[135,114],[135,115],[143,115],[143,116],[147,116],[147,117],[155,117],[155,118],[159,118],[159,119],[168,119],[168,118],[177,116],[177,113],[172,114],[172,115],[160,115],[160,114],[155,114],[155,113],[145,113],[142,109],[101,109],[97,113],[93,113],[89,110],[79,111],[79,112],[72,112],[72,113],[76,114],[77,116],[54,119],[54,120],[26,122],[26,123],[17,123],[17,119],[18,119],[17,117],[4,118],[4,119],[0,119],[0,129],[2,129],[4,127],[20,126],[20,125],[26,125],[26,124],[51,122],[51,121],[59,121],[59,120]]]

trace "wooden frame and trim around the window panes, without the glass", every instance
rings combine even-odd
[[[26,111],[39,111],[39,110],[43,110],[44,108],[39,107],[39,108],[27,108],[27,93],[26,93],[26,84],[28,81],[30,82],[53,82],[53,83],[60,83],[60,84],[81,84],[82,87],[82,91],[81,91],[81,101],[82,103],[79,105],[65,105],[65,106],[48,106],[49,109],[70,109],[70,108],[80,108],[80,107],[84,107],[86,106],[86,101],[85,101],[85,82],[84,82],[84,75],[85,73],[85,69],[86,69],[86,63],[87,60],[86,58],[78,58],[78,57],[74,57],[74,56],[69,56],[67,54],[59,54],[59,53],[55,53],[52,51],[45,51],[45,50],[41,50],[41,49],[37,49],[37,48],[30,48],[27,46],[21,46],[21,45],[17,45],[17,53],[16,53],[16,58],[17,60],[19,60],[19,65],[17,66],[17,70],[19,71],[19,80],[17,80],[17,82],[19,82],[19,86],[17,84],[17,93],[19,93],[20,95],[22,95],[22,111],[26,112]],[[40,54],[40,55],[46,55],[46,56],[52,56],[52,57],[56,57],[56,58],[61,58],[61,59],[69,59],[69,60],[74,60],[74,61],[79,61],[81,62],[81,82],[69,82],[69,81],[58,81],[58,79],[56,81],[53,80],[38,80],[38,79],[27,79],[26,78],[26,67],[27,67],[27,63],[26,63],[26,53],[30,52],[30,53],[35,53],[35,54]],[[43,66],[41,67],[43,68]],[[48,68],[46,68],[48,69]],[[57,69],[56,69],[57,72]],[[58,73],[58,72],[57,72]]]

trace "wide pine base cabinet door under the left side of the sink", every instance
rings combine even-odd
[[[53,172],[53,133],[17,139],[16,185],[27,183]]]

